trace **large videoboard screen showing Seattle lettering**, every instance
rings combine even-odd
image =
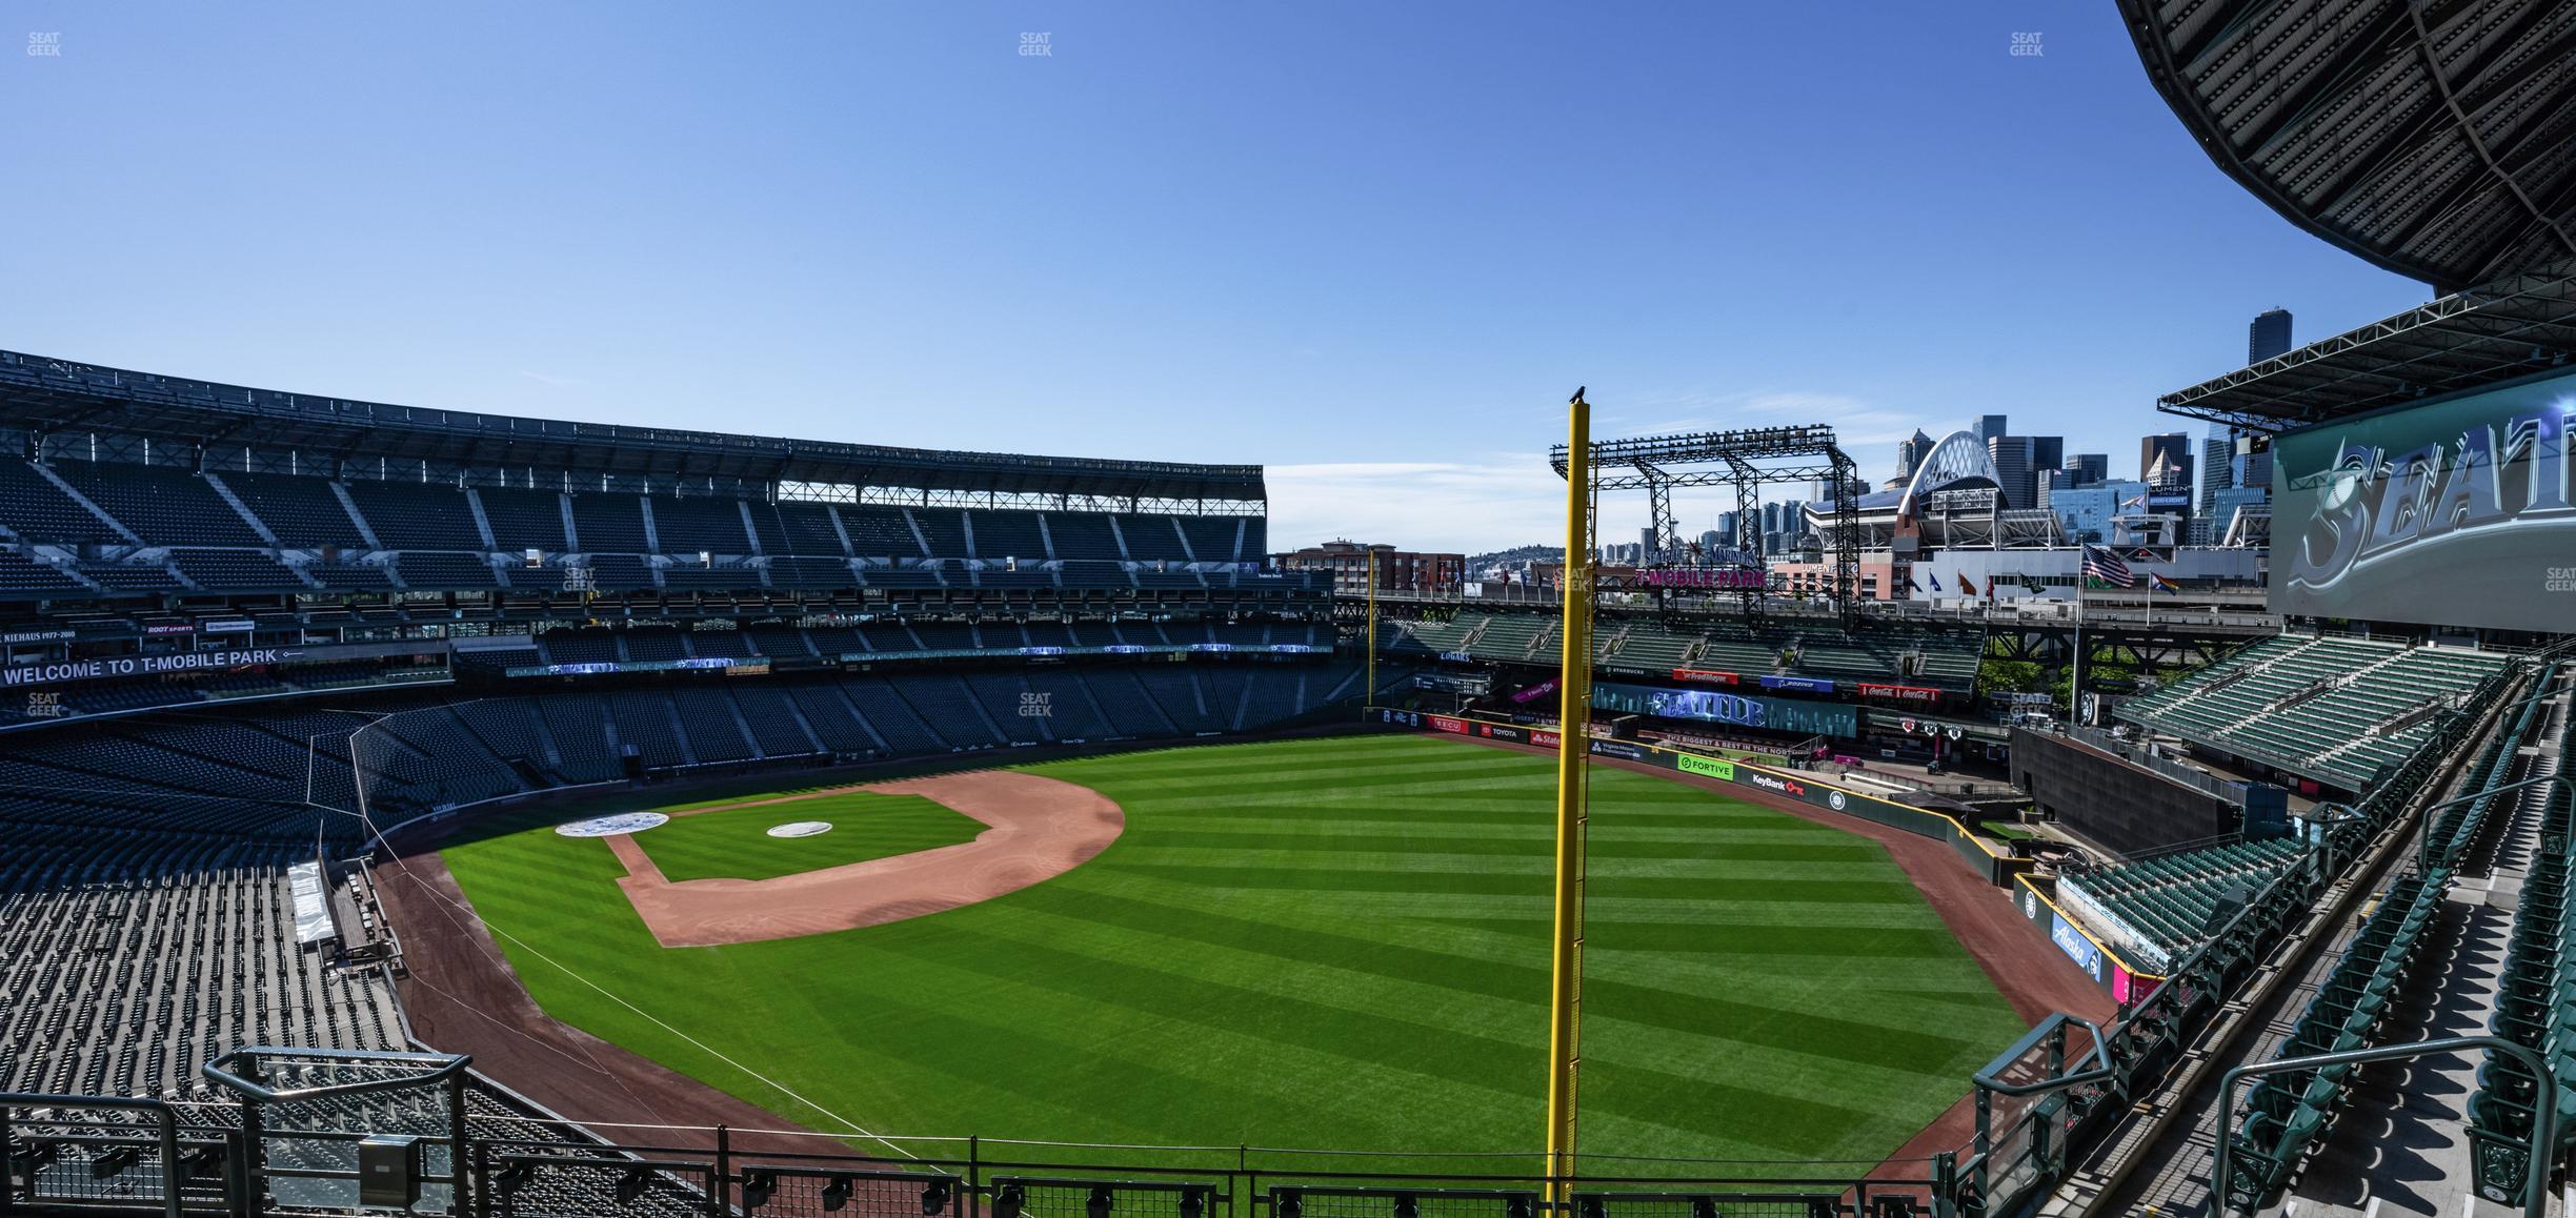
[[[2285,433],[2272,610],[2576,631],[2576,371]]]

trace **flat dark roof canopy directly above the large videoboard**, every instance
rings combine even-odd
[[[2571,358],[2576,258],[2177,389],[2156,407],[2277,433],[2563,368]]]

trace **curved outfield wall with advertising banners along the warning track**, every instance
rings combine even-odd
[[[1564,734],[1553,726],[1530,724],[1497,724],[1479,716],[1443,716],[1427,711],[1396,711],[1386,706],[1368,708],[1368,724],[1409,729],[1409,731],[1440,731],[1450,736],[1471,739],[1499,739],[1507,744],[1533,744],[1540,749],[1556,749]],[[2030,883],[2032,860],[2012,857],[1996,852],[1984,837],[1968,832],[1965,824],[1950,819],[1940,811],[1914,809],[1906,803],[1893,803],[1860,791],[1839,788],[1819,780],[1811,773],[1777,770],[1770,765],[1739,762],[1728,757],[1710,757],[1690,749],[1672,749],[1664,744],[1646,744],[1633,739],[1592,739],[1595,757],[1618,757],[1623,762],[1643,762],[1664,770],[1680,770],[1685,775],[1716,778],[1723,783],[1747,785],[1772,796],[1788,796],[1801,803],[1811,803],[1842,816],[1857,816],[1873,824],[1886,824],[1888,829],[1901,829],[1914,837],[1929,837],[1945,842],[1960,863],[1994,883],[1996,888],[2009,888],[2014,896],[2014,909],[2048,935],[2050,942],[2066,953],[2066,960],[2076,966],[2094,986],[2112,997],[2112,1002],[2128,1002],[2151,991],[2159,981],[2156,973],[2146,973],[2130,966],[2125,958],[2112,953],[2076,919],[2058,912],[2056,901],[2040,894]]]

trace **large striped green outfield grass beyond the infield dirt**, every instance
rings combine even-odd
[[[1345,736],[1030,770],[1126,834],[840,935],[665,950],[598,839],[446,857],[549,1012],[814,1125],[747,1071],[878,1133],[1538,1146],[1553,760]],[[1589,842],[1592,1154],[1875,1161],[2022,1033],[1875,842],[1625,770]]]

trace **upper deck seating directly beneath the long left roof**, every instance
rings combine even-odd
[[[111,520],[57,487],[44,469],[57,471]],[[397,551],[394,572],[384,559],[343,567],[350,559],[307,567],[330,590],[492,590],[515,582],[489,579],[469,564],[477,554],[541,551],[587,554],[592,567],[616,567],[598,587],[631,592],[675,587],[683,592],[729,590],[842,590],[842,587],[984,587],[984,590],[1203,590],[1255,587],[1244,574],[1193,572],[1185,564],[1249,564],[1262,559],[1265,520],[1234,515],[1108,515],[1033,512],[1007,507],[930,507],[930,505],[824,505],[765,502],[729,494],[631,494],[605,489],[477,487],[402,479],[402,469],[381,476],[327,479],[314,474],[222,471],[198,474],[178,466],[134,466],[103,461],[57,461],[52,466],[0,461],[0,528],[13,538],[67,546],[144,546],[185,548],[268,548],[268,551]],[[240,502],[240,507],[234,507]],[[477,520],[477,505],[482,520]],[[567,510],[572,530],[567,533]],[[245,515],[247,512],[247,515]],[[649,515],[649,525],[647,525]],[[118,533],[116,523],[134,536]],[[489,525],[489,528],[487,528]],[[263,536],[265,528],[265,536]],[[8,541],[8,538],[0,538]],[[415,554],[440,559],[410,561]],[[641,556],[696,559],[698,554],[734,559],[665,579],[641,577]],[[768,556],[768,564],[739,561]],[[868,559],[868,574],[853,574],[840,559]],[[933,559],[927,569],[891,569],[894,561]],[[999,567],[1015,559],[1015,569]],[[131,561],[131,559],[129,559]],[[294,559],[301,564],[304,559]],[[1059,572],[1054,564],[1077,564]],[[301,579],[278,585],[265,564],[242,559],[198,559],[214,590],[312,587]],[[971,567],[994,564],[994,567]],[[1126,564],[1149,564],[1131,574]],[[183,561],[180,572],[191,572]],[[258,577],[252,577],[258,572]],[[23,572],[21,572],[23,574]],[[39,572],[41,574],[41,572]],[[263,579],[265,577],[265,579]],[[193,574],[191,574],[193,579]],[[394,582],[399,579],[399,585]],[[1275,574],[1262,577],[1275,587]],[[21,579],[28,582],[28,579]],[[108,574],[106,592],[165,592],[175,579]],[[31,579],[8,592],[80,592],[88,585]]]

